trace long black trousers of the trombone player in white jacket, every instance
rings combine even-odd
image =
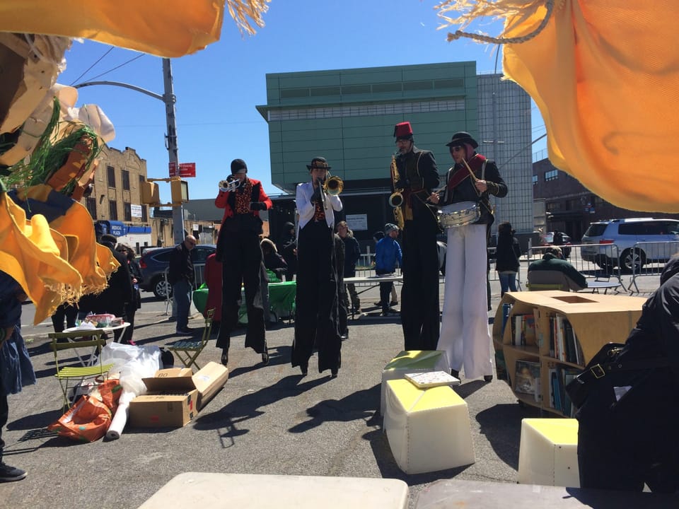
[[[310,221],[299,232],[293,366],[308,365],[315,344],[318,373],[340,368],[342,339],[337,328],[335,236],[325,221]]]

